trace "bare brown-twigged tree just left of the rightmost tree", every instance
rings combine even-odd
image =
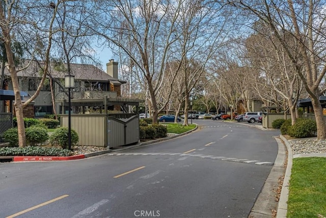
[[[295,52],[297,50],[296,43],[292,35],[287,34],[289,46],[291,41],[291,50],[294,51],[292,56],[294,57],[298,55]],[[252,67],[258,69],[260,73],[261,78],[259,80],[265,80],[265,83],[256,83],[257,93],[263,100],[274,102],[276,105],[280,105],[280,102],[283,102],[282,99],[286,99],[287,105],[283,109],[286,113],[287,106],[289,107],[293,125],[297,117],[296,102],[302,93],[303,84],[298,74],[295,73],[295,67],[286,55],[284,48],[273,36],[273,32],[270,32],[268,26],[263,31],[248,38],[246,47],[247,56],[252,60]]]

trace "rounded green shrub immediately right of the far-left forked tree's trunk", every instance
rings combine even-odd
[[[39,143],[46,142],[49,139],[47,130],[40,126],[31,126],[25,129],[26,144],[36,146]]]

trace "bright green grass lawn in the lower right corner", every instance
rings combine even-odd
[[[287,217],[326,217],[326,157],[293,159],[287,203]]]

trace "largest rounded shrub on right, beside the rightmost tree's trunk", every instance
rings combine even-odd
[[[288,129],[288,134],[294,138],[308,138],[313,137],[316,131],[316,121],[301,118],[297,119],[294,125]]]

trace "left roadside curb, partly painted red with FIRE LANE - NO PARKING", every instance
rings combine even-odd
[[[98,155],[107,154],[107,153],[111,153],[111,152],[119,152],[119,151],[128,150],[128,149],[132,149],[132,148],[137,148],[137,147],[144,146],[144,145],[150,145],[150,144],[154,144],[154,143],[158,143],[158,142],[162,142],[162,141],[167,141],[167,140],[174,139],[177,137],[182,137],[183,135],[186,135],[186,134],[191,133],[198,129],[198,125],[196,123],[194,123],[194,124],[196,125],[196,127],[194,129],[191,129],[189,131],[186,131],[186,132],[183,132],[180,134],[172,135],[171,137],[152,140],[152,141],[148,141],[148,142],[142,142],[142,143],[138,143],[136,145],[124,146],[124,147],[118,148],[118,149],[109,149],[109,150],[104,150],[104,151],[97,151],[97,152],[92,152],[92,153],[88,153],[88,154],[79,154],[79,155],[68,156],[68,157],[56,157],[56,156],[10,156],[9,157],[9,156],[6,156],[6,157],[3,157],[2,159],[12,159],[13,162],[62,161],[62,160],[84,159],[84,158],[98,156]]]

